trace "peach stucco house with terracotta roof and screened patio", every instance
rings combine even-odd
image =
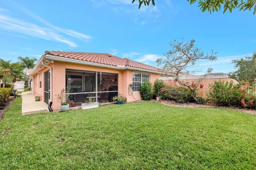
[[[46,104],[52,101],[53,110],[58,110],[60,103],[55,95],[62,88],[73,106],[88,103],[89,97],[109,103],[118,93],[130,102],[141,99],[142,82],[154,83],[161,72],[156,67],[111,54],[46,51],[29,76],[33,77],[33,94],[41,96]]]

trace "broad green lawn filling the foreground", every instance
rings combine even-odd
[[[0,122],[0,169],[255,169],[256,116],[158,103],[21,116]]]

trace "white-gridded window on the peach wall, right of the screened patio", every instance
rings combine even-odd
[[[134,72],[132,76],[133,91],[140,91],[141,83],[146,81],[149,81],[149,74]]]

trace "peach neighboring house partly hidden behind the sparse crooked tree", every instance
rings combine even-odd
[[[182,82],[188,82],[189,84],[192,84],[196,82],[198,79],[202,79],[204,75],[186,75],[186,76],[181,76],[180,80]],[[164,80],[165,83],[169,84],[170,86],[173,87],[178,87],[181,86],[174,77],[162,77],[162,80]],[[238,82],[235,79],[230,79],[228,78],[228,74],[226,73],[209,73],[206,74],[202,82],[200,83],[199,89],[198,89],[198,96],[201,97],[207,97],[207,93],[209,92],[210,89],[210,84],[213,83],[214,81],[233,81],[235,84]]]

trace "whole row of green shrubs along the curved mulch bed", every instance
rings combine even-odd
[[[185,87],[171,87],[157,79],[152,87],[150,82],[141,84],[140,94],[143,100],[150,100],[154,97],[161,97],[163,100],[174,100],[178,103],[194,102],[191,91]],[[206,102],[214,103],[217,106],[234,106],[256,109],[256,96],[246,93],[241,84],[234,84],[233,81],[215,81],[210,84],[207,98],[197,97],[198,104]]]

